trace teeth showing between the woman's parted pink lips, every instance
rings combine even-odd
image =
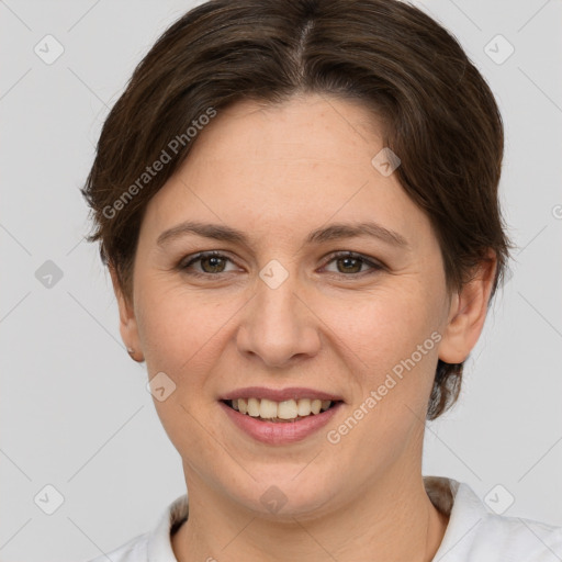
[[[261,422],[288,423],[322,414],[339,404],[340,401],[300,398],[276,402],[268,398],[252,397],[224,400],[222,402],[239,414]]]

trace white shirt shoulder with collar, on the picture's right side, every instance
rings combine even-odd
[[[434,560],[439,562],[557,562],[562,527],[492,512],[464,483],[447,479],[449,525]],[[441,480],[441,484],[443,480]]]

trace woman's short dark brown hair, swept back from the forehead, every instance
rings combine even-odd
[[[88,240],[100,240],[125,296],[147,203],[186,159],[202,116],[241,99],[280,103],[297,93],[372,110],[401,159],[397,179],[431,222],[448,290],[493,249],[494,295],[510,248],[497,196],[503,124],[457,40],[394,0],[213,0],[173,23],[139,63],[82,189],[94,221]],[[148,173],[164,153],[168,160]],[[428,419],[456,402],[462,369],[439,360]]]

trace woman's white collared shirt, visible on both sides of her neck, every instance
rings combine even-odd
[[[562,527],[497,515],[464,483],[424,476],[434,505],[450,516],[434,562],[560,562]],[[151,531],[108,553],[112,562],[177,562],[170,531],[188,517],[188,496],[172,502]],[[89,562],[105,562],[100,555]]]

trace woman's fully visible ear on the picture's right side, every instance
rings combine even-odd
[[[448,324],[439,344],[441,361],[462,363],[476,345],[486,319],[496,266],[496,255],[490,250],[473,278],[451,299]]]

